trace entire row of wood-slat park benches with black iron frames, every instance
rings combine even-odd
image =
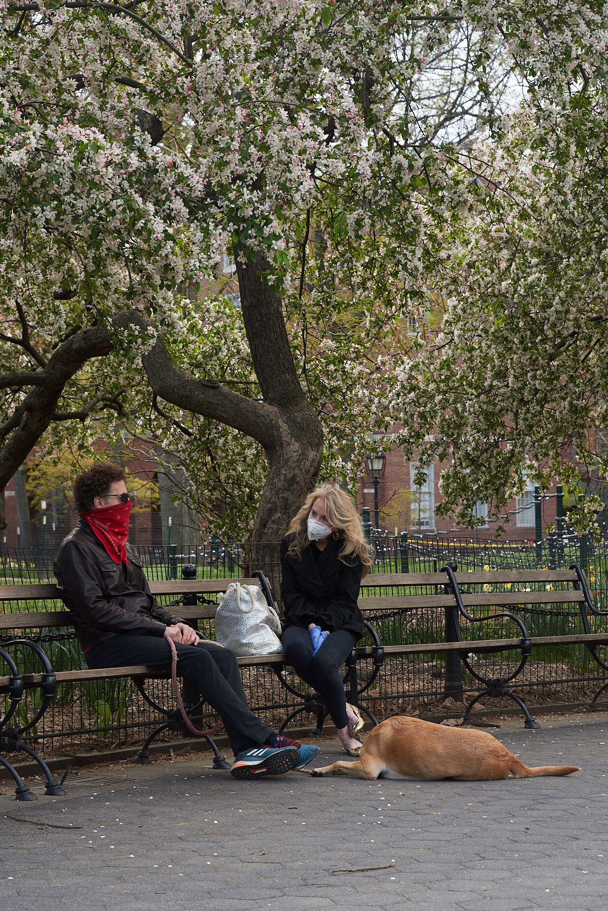
[[[261,573],[254,574],[257,578],[238,579],[241,584],[261,584],[267,599],[271,599],[268,583]],[[169,581],[149,582],[152,594],[157,598],[174,599],[179,602],[178,613],[193,625],[198,620],[209,620],[215,617],[217,604],[208,596],[217,596],[225,592],[231,578],[223,579],[183,579]],[[517,590],[518,587],[530,590]],[[532,586],[536,587],[532,590]],[[559,587],[559,588],[558,588]],[[481,589],[481,590],[479,590]],[[494,590],[491,590],[494,589]],[[389,591],[390,594],[386,592]],[[56,602],[59,595],[55,585],[5,585],[0,586],[0,601],[33,601]],[[201,603],[202,602],[202,603]],[[600,646],[608,644],[608,633],[594,633],[590,620],[593,617],[603,616],[605,612],[598,611],[593,606],[593,600],[581,569],[573,567],[568,570],[526,570],[526,571],[491,571],[491,572],[458,572],[455,564],[442,568],[441,572],[434,573],[400,573],[400,574],[372,574],[363,579],[361,584],[360,608],[367,614],[373,623],[366,622],[366,640],[364,644],[353,650],[345,664],[345,684],[348,689],[349,701],[359,705],[360,710],[369,717],[372,723],[377,723],[373,714],[360,703],[360,696],[370,689],[376,679],[380,668],[388,658],[414,655],[445,655],[445,691],[447,695],[458,696],[462,692],[461,662],[469,670],[474,680],[479,681],[482,691],[471,701],[464,712],[464,721],[470,720],[471,708],[483,696],[506,696],[521,707],[525,716],[525,727],[535,728],[538,723],[534,721],[530,712],[514,693],[509,689],[512,683],[522,672],[532,649],[552,645],[581,645],[583,644],[593,655],[594,660],[608,670],[606,664],[597,655]],[[556,605],[573,604],[580,610],[583,620],[583,633],[560,634],[556,636],[530,636],[522,621],[513,612],[513,609],[542,608],[555,609]],[[510,610],[511,609],[511,610]],[[435,629],[443,630],[443,635],[435,636],[435,641],[421,642],[408,641],[407,620],[421,614],[433,619]],[[378,628],[390,618],[405,619],[404,641],[396,644],[383,645],[378,635]],[[493,623],[494,630],[499,623],[498,630],[501,635],[490,638],[476,635],[484,624]],[[376,629],[374,629],[374,625]],[[429,628],[433,623],[429,624]],[[510,626],[512,635],[505,637],[505,627]],[[71,627],[70,615],[66,610],[51,611],[19,611],[16,613],[0,614],[0,635],[3,631],[10,630],[12,634],[21,636],[31,635],[34,630],[58,629]],[[23,640],[14,640],[23,641]],[[9,658],[6,652],[7,643],[1,654],[5,660]],[[35,643],[30,643],[29,648],[37,648]],[[24,646],[25,648],[25,646]],[[480,672],[479,666],[475,668],[471,659],[471,652],[475,656],[500,653],[505,651],[519,652],[519,660],[515,670],[507,676],[488,678]],[[12,660],[12,659],[11,659]],[[42,660],[42,659],[41,659]],[[371,661],[372,668],[367,672],[365,680],[360,681],[357,670],[358,660]],[[48,665],[48,662],[46,662]],[[299,691],[287,680],[284,671],[286,663],[282,655],[262,655],[255,658],[239,658],[241,667],[268,666],[282,681],[287,690],[299,700],[294,711],[291,711],[280,727],[286,729],[300,712],[314,713],[317,716],[317,725],[313,733],[322,730],[327,711],[317,693]],[[44,665],[44,661],[43,661]],[[157,667],[137,665],[133,667],[105,668],[98,670],[61,670],[54,671],[50,665],[44,665],[42,673],[19,673],[15,665],[10,664],[11,673],[0,677],[0,693],[5,692],[10,701],[10,706],[5,718],[0,722],[0,752],[15,752],[25,749],[23,735],[31,730],[53,698],[57,683],[116,680],[119,678],[132,678],[137,690],[142,697],[155,710],[166,716],[148,737],[142,748],[137,753],[136,761],[148,761],[148,747],[158,733],[167,729],[185,731],[184,722],[177,709],[165,709],[151,699],[145,689],[147,680],[167,679],[168,672],[160,671]],[[607,684],[608,685],[608,684]],[[27,723],[25,727],[9,729],[7,722],[15,713],[15,708],[22,698],[24,688],[41,688],[43,701],[35,711],[35,720]],[[602,688],[603,689],[603,688]],[[597,698],[597,695],[594,699]],[[188,714],[196,722],[201,710],[201,704],[190,705]],[[208,736],[208,742],[214,752],[214,766],[226,768],[228,763],[218,752],[216,744]],[[54,793],[57,787],[45,763],[33,750],[27,748],[25,752],[33,756],[41,764],[46,775],[46,793]],[[27,786],[21,781],[12,766],[0,757],[0,762],[9,769],[17,783],[17,799],[31,799],[26,795]],[[55,792],[57,793],[57,792]],[[25,795],[25,796],[24,796]],[[33,796],[33,795],[32,795]]]

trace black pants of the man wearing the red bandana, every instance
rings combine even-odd
[[[261,746],[274,731],[253,714],[233,651],[220,645],[176,642],[177,674],[190,681],[201,697],[220,715],[235,755]],[[158,636],[117,633],[86,652],[89,668],[120,668],[129,664],[158,664],[171,670],[169,643]]]

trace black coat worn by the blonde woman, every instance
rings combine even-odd
[[[349,630],[357,639],[363,635],[363,616],[358,606],[362,564],[360,558],[338,559],[343,541],[329,538],[315,560],[309,545],[301,559],[288,557],[290,537],[280,546],[281,587],[284,626],[307,628],[318,623],[321,630]]]

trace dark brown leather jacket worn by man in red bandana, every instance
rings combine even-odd
[[[179,622],[157,604],[147,579],[127,544],[127,563],[115,563],[85,519],[61,542],[53,564],[61,599],[84,649],[119,632],[163,636]]]

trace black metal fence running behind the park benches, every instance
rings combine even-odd
[[[374,573],[413,573],[437,571],[445,562],[454,560],[463,571],[482,569],[567,568],[573,563],[583,566],[590,589],[598,607],[606,608],[606,565],[608,541],[593,543],[589,537],[562,536],[539,542],[482,541],[471,537],[408,536],[389,537],[370,534],[375,551]],[[238,578],[249,575],[252,568],[261,568],[272,580],[275,595],[279,595],[279,547],[257,548],[252,555],[246,545],[210,542],[203,546],[177,548],[136,548],[147,578],[181,578],[187,564],[196,567],[197,578]],[[0,553],[0,583],[54,581],[54,553],[47,550],[5,550]],[[255,565],[252,563],[255,561]],[[382,594],[400,594],[402,589],[381,589]],[[421,589],[420,593],[424,593]],[[522,600],[524,600],[522,598]],[[60,607],[59,604],[56,605]],[[48,602],[36,604],[6,601],[5,612],[51,609]],[[563,632],[582,632],[580,614],[573,605],[559,603],[550,608],[516,609],[532,635],[557,635]],[[383,644],[402,642],[437,642],[444,639],[444,616],[441,611],[369,611],[368,619],[380,634]],[[597,631],[602,629],[598,626]],[[213,621],[199,621],[199,630],[213,638]],[[504,630],[493,630],[495,638]],[[7,642],[10,630],[0,637]],[[84,658],[73,630],[32,630],[31,638],[46,650],[56,670],[76,670],[85,666]],[[14,647],[15,648],[15,647]],[[17,649],[18,650],[18,649]],[[31,652],[18,650],[17,658],[26,671],[39,670],[32,663]],[[473,660],[477,660],[473,656]],[[492,676],[507,674],[509,652],[482,657],[483,670]],[[360,668],[361,674],[371,674],[371,661]],[[387,660],[380,671],[375,689],[365,699],[370,710],[380,717],[396,711],[412,709],[431,711],[441,706],[445,698],[443,656],[420,654]],[[0,664],[0,674],[7,673]],[[271,724],[279,724],[292,710],[295,702],[279,684],[276,675],[264,668],[243,670],[243,680],[253,711]],[[463,674],[465,691],[474,691],[474,681]],[[513,688],[529,704],[547,701],[584,701],[597,689],[603,679],[598,676],[593,660],[583,647],[554,646],[535,650],[522,678]],[[157,681],[151,684],[152,695],[160,704],[172,704],[170,684]],[[20,707],[23,718],[30,716],[35,695],[28,693]],[[491,703],[495,704],[494,702]],[[31,717],[31,716],[30,716]],[[131,681],[92,681],[69,683],[58,687],[56,700],[39,723],[33,738],[46,752],[81,751],[110,748],[141,741],[159,721],[155,711],[142,700]],[[213,716],[205,721],[213,722]]]

